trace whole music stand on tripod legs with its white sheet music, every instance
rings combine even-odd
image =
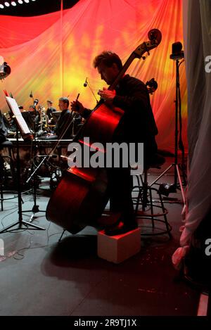
[[[21,198],[21,186],[20,186],[20,153],[19,153],[19,139],[18,139],[18,130],[20,130],[20,134],[22,135],[23,139],[27,140],[30,139],[32,141],[33,137],[30,134],[30,130],[27,127],[27,124],[25,120],[23,119],[23,116],[20,113],[20,109],[18,108],[18,104],[16,103],[15,99],[13,97],[9,97],[6,91],[4,91],[6,95],[6,102],[8,103],[8,107],[11,109],[11,112],[13,113],[13,117],[15,119],[15,125],[16,125],[16,144],[17,144],[17,190],[18,190],[18,221],[14,222],[13,224],[10,224],[7,227],[4,227],[0,231],[1,233],[4,233],[4,231],[7,231],[8,229],[11,229],[12,227],[15,227],[16,225],[19,226],[18,229],[22,229],[22,226],[25,225],[26,227],[30,225],[34,229],[39,230],[45,230],[45,228],[37,226],[37,224],[31,224],[30,222],[27,222],[23,220],[23,210],[22,210],[22,198]]]

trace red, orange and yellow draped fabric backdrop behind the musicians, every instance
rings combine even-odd
[[[11,91],[19,105],[30,106],[30,91],[40,103],[60,96],[94,108],[96,101],[84,80],[97,95],[105,86],[92,67],[93,58],[103,50],[115,51],[124,63],[148,31],[158,28],[162,42],[146,54],[146,60],[129,67],[128,73],[146,82],[158,81],[151,96],[158,125],[159,148],[174,149],[175,62],[170,60],[172,43],[183,42],[182,0],[81,0],[57,13],[30,18],[1,16],[0,55],[11,66],[11,75],[1,84],[0,108],[8,109],[3,89]],[[183,136],[186,142],[186,77],[180,69]],[[136,118],[134,118],[136,120]]]

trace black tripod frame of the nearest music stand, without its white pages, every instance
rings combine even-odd
[[[7,96],[7,94],[6,94]],[[6,100],[7,103],[8,103],[8,100]],[[8,103],[8,106],[9,108],[11,108],[10,104]],[[18,106],[18,105],[17,105]],[[11,108],[11,111],[13,113],[13,109]],[[19,139],[18,139],[18,120],[17,120],[17,117],[15,116],[15,114],[13,113],[13,116],[15,118],[15,125],[16,125],[16,144],[17,144],[17,156],[16,156],[16,163],[17,163],[17,190],[18,190],[18,221],[13,223],[13,224],[10,224],[9,226],[7,227],[4,227],[4,229],[2,229],[0,231],[0,234],[1,233],[4,233],[4,231],[7,231],[8,229],[11,229],[12,227],[15,227],[16,225],[18,225],[18,229],[22,229],[22,226],[25,225],[26,227],[28,225],[30,225],[31,227],[33,227],[34,229],[39,229],[39,230],[45,230],[45,228],[42,228],[42,227],[39,227],[37,226],[37,224],[32,224],[30,222],[27,222],[25,220],[23,220],[23,210],[22,210],[22,198],[21,198],[21,186],[20,186],[20,153],[19,153]],[[20,132],[21,129],[20,129]]]

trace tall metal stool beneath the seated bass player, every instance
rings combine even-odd
[[[165,208],[162,196],[158,189],[153,188],[148,184],[148,170],[150,168],[160,168],[162,164],[165,163],[165,158],[160,156],[158,153],[151,159],[149,165],[145,165],[143,174],[136,175],[138,180],[138,185],[133,186],[132,192],[138,192],[138,196],[133,197],[133,203],[135,205],[135,215],[136,219],[145,219],[151,220],[152,230],[150,232],[141,230],[142,236],[155,236],[155,235],[162,235],[168,234],[171,238],[171,230],[172,227],[167,221],[167,209]],[[142,177],[143,175],[143,177]],[[158,203],[153,201],[153,192],[158,193],[159,201]],[[141,211],[139,211],[139,205],[141,205]],[[146,208],[150,208],[150,213],[146,212]],[[154,208],[161,209],[161,212],[154,212]],[[162,218],[163,217],[163,218]],[[161,219],[162,218],[162,219]],[[155,222],[160,222],[165,224],[165,228],[162,229],[160,227],[155,227]],[[148,229],[148,226],[143,226]]]

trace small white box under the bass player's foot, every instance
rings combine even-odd
[[[127,260],[141,250],[141,229],[125,234],[108,236],[104,230],[98,231],[98,257],[116,264]]]

